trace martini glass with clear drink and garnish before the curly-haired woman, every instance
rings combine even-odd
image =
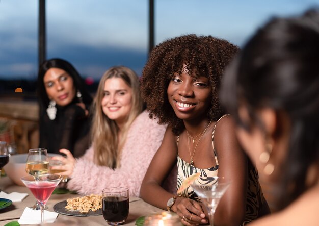
[[[194,189],[195,193],[205,204],[208,214],[210,225],[214,224],[214,213],[219,204],[220,199],[226,192],[230,181],[224,177],[207,177],[210,183],[200,184],[198,180],[195,180],[191,187]]]

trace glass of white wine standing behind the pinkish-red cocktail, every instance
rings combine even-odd
[[[30,149],[28,157],[26,157],[26,173],[32,175],[35,180],[38,180],[42,174],[49,172],[49,156],[47,150],[44,148]],[[40,210],[38,202],[34,206],[30,207],[33,210]],[[44,206],[44,209],[47,209]]]

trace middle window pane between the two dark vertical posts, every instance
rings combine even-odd
[[[148,54],[147,0],[47,0],[47,58],[70,61],[95,80],[114,65],[138,74]]]

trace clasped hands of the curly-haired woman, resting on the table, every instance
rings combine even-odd
[[[179,216],[184,225],[198,225],[208,223],[203,208],[205,207],[201,203],[179,196],[171,210]]]

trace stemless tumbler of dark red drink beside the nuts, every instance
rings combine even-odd
[[[129,212],[127,188],[115,187],[102,190],[102,214],[109,225],[121,225]]]

